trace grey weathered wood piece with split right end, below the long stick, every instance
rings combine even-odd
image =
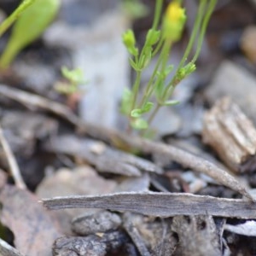
[[[68,145],[68,147],[67,147]],[[56,136],[44,144],[50,152],[70,154],[96,166],[98,172],[141,176],[145,172],[162,173],[159,166],[133,154],[111,148],[102,141],[73,136]]]

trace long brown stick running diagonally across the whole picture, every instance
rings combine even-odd
[[[249,194],[247,189],[239,183],[235,177],[231,176],[218,166],[215,166],[208,160],[205,160],[194,154],[190,154],[180,148],[166,145],[164,143],[151,142],[141,137],[132,137],[119,131],[109,130],[108,128],[99,127],[97,125],[85,124],[79,119],[69,108],[61,105],[60,103],[52,102],[42,96],[36,96],[31,93],[10,88],[7,85],[0,84],[0,95],[6,96],[17,102],[25,105],[30,105],[37,108],[44,108],[51,113],[60,115],[62,118],[67,119],[73,125],[76,125],[91,137],[102,139],[112,144],[126,144],[131,148],[137,148],[144,153],[158,153],[165,154],[171,160],[174,160],[184,167],[191,168],[197,172],[202,172],[212,177],[218,183],[235,190],[247,197],[250,201],[254,201],[252,195]]]

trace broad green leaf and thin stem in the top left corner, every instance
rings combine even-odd
[[[37,39],[55,18],[60,0],[24,0],[0,25],[0,36],[16,20],[9,42],[0,57],[0,67],[9,67],[15,56]],[[2,33],[1,33],[2,32]]]

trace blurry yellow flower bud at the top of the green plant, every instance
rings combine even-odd
[[[163,20],[165,38],[171,39],[172,42],[177,42],[182,36],[186,19],[185,9],[180,6],[180,3],[177,1],[169,3]]]

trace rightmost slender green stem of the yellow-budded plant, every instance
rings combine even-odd
[[[216,3],[217,3],[217,0],[211,0],[211,2],[207,6],[207,14],[205,15],[204,20],[202,21],[201,32],[200,32],[200,36],[199,36],[199,39],[198,39],[197,48],[196,48],[196,51],[195,51],[195,55],[194,55],[194,57],[191,61],[193,63],[195,63],[198,56],[200,55],[201,46],[202,46],[203,40],[205,38],[206,31],[207,31],[207,26],[208,26],[209,20],[212,16],[212,12],[213,12],[213,10],[216,6]]]

